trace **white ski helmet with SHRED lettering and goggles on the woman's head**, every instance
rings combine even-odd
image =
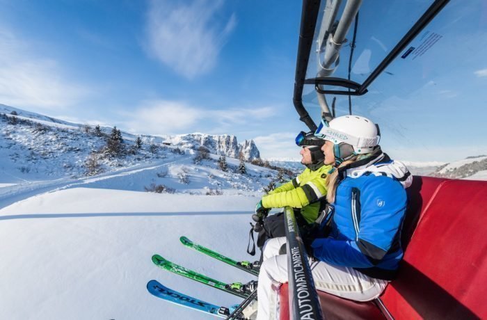
[[[321,120],[314,135],[335,145],[351,145],[355,154],[372,152],[380,140],[378,127],[372,120],[360,115],[342,115],[330,122]]]

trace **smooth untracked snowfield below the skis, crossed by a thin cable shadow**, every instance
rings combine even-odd
[[[159,253],[225,282],[252,280],[184,248],[179,237],[251,259],[245,250],[257,200],[74,188],[0,209],[0,319],[212,319],[155,298],[146,283],[156,279],[209,303],[241,299],[163,271],[150,258]]]

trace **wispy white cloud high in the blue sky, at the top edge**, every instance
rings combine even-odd
[[[224,25],[216,22],[214,15],[223,5],[221,0],[186,3],[150,2],[147,47],[159,61],[192,79],[214,67],[237,19],[231,15]]]

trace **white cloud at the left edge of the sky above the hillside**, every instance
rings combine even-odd
[[[70,83],[54,60],[33,55],[29,44],[0,29],[0,103],[61,109],[79,102],[88,88]]]

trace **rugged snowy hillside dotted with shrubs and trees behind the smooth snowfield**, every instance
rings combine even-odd
[[[122,134],[122,151],[113,155],[107,151],[110,128],[97,132],[93,127],[52,122],[42,115],[3,105],[1,108],[0,186],[8,188],[0,189],[0,207],[41,189],[51,191],[92,181],[86,178],[90,175],[119,179],[111,173],[120,170],[154,167],[133,175],[130,182],[122,179],[120,189],[161,191],[163,186],[163,191],[195,194],[261,191],[278,175],[276,170],[250,163],[246,163],[246,173],[242,174],[238,170],[240,161],[231,157],[226,159],[228,169],[223,171],[218,167],[216,154],[195,161],[198,152],[193,150],[194,145],[165,145],[164,138],[155,136],[141,136],[142,145],[136,147],[135,136]],[[183,141],[187,142],[179,142]],[[44,184],[45,180],[49,183]],[[17,196],[9,198],[13,193]],[[7,203],[2,202],[6,198]]]

